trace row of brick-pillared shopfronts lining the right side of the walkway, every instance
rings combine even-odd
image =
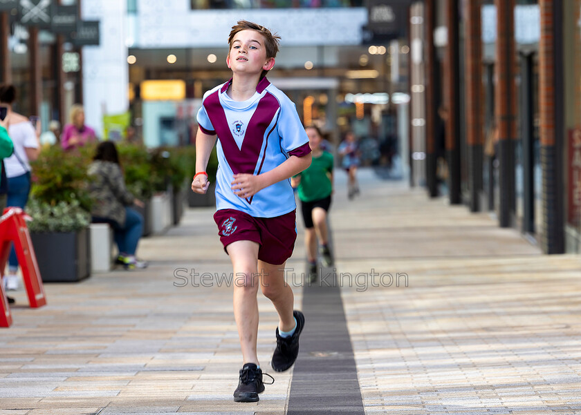
[[[441,193],[434,160],[445,142],[450,203],[494,213],[546,253],[581,246],[580,9],[579,0],[412,7],[425,33],[425,60],[414,66],[426,65],[415,103],[412,79],[412,113],[423,99],[427,125],[426,161],[414,167],[425,168],[429,195]]]

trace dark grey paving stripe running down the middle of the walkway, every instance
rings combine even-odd
[[[304,288],[305,326],[287,415],[365,415],[340,288],[318,285]]]

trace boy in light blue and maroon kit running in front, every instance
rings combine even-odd
[[[295,363],[304,327],[303,314],[293,311],[284,264],[297,238],[290,177],[311,164],[311,148],[295,105],[265,77],[275,65],[279,39],[249,21],[233,26],[226,58],[232,79],[205,93],[197,116],[196,193],[208,191],[204,171],[219,137],[214,220],[236,276],[234,319],[243,357],[237,402],[256,402],[264,391],[257,357],[259,284],[279,315],[270,363],[275,371]]]

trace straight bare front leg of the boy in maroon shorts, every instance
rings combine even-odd
[[[237,241],[226,250],[234,269],[234,319],[238,327],[243,363],[258,365],[256,342],[258,335],[257,273],[258,244]],[[292,311],[291,311],[292,316]]]

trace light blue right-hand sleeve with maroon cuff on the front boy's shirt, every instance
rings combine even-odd
[[[277,122],[281,147],[288,154],[302,157],[311,153],[311,148],[308,147],[308,137],[297,114],[295,104],[288,97],[284,98],[286,99],[280,100],[281,107]]]

